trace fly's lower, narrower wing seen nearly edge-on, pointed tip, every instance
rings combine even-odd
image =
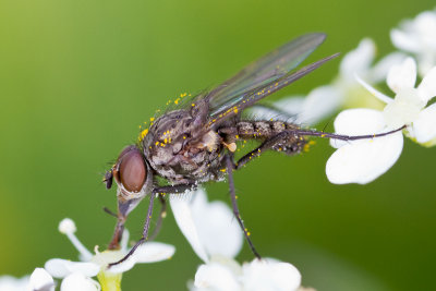
[[[255,87],[251,90],[243,92],[242,94],[237,96],[237,101],[233,102],[230,107],[223,107],[221,110],[214,112],[210,116],[209,121],[207,123],[207,129],[219,125],[222,121],[237,116],[242,110],[253,106],[255,102],[265,98],[268,95],[290,85],[294,81],[303,77],[304,75],[311,73],[315,69],[319,68],[325,62],[338,57],[339,54],[332,54],[330,57],[320,59],[317,62],[308,64],[296,72],[289,72],[278,78],[271,80],[264,85]]]

